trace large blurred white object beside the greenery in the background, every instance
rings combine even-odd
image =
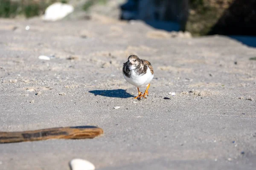
[[[54,3],[46,8],[43,20],[61,20],[73,11],[74,7],[72,5],[66,3]]]

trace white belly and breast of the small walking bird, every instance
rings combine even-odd
[[[148,86],[148,83],[151,82],[154,74],[151,74],[150,69],[148,68],[146,74],[137,75],[134,70],[131,70],[131,77],[126,77],[125,75],[124,77],[130,84],[137,88],[142,88]]]

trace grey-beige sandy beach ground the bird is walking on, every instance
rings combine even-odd
[[[154,67],[147,99],[133,99],[123,78],[130,54]],[[97,170],[254,170],[251,57],[256,48],[227,37],[172,38],[140,22],[1,19],[0,130],[97,125],[105,134],[0,144],[0,170],[68,170],[73,158]]]

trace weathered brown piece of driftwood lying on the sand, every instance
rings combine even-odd
[[[39,141],[47,139],[87,139],[103,134],[96,126],[56,127],[22,132],[0,132],[0,143]]]

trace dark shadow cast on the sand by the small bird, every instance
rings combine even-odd
[[[126,90],[123,89],[115,89],[115,90],[94,90],[89,91],[90,93],[94,94],[95,96],[106,96],[106,97],[116,97],[116,98],[129,98],[134,97],[133,95],[126,92]]]

